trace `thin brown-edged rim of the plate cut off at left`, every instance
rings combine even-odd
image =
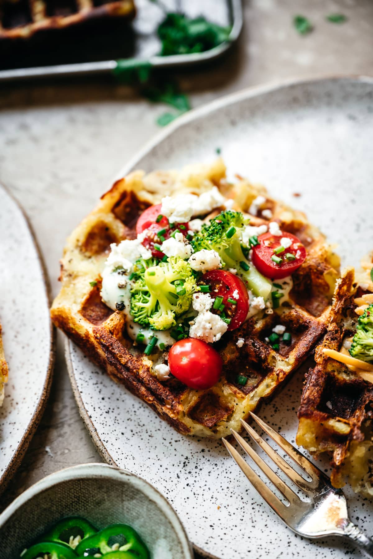
[[[12,195],[9,188],[7,188],[3,183],[0,183],[0,188],[3,190],[5,195],[8,198],[11,198],[12,202],[18,207],[25,221],[26,227],[29,230],[30,238],[32,243],[35,247],[35,253],[37,257],[37,262],[39,263],[41,276],[44,283],[44,290],[46,295],[46,300],[48,301],[48,305],[50,307],[51,304],[51,288],[48,273],[46,272],[46,266],[43,259],[43,254],[39,248],[39,244],[37,243],[36,235],[34,230],[32,229],[32,225],[30,223],[29,217],[26,214],[26,211],[23,209],[22,205],[15,196]],[[46,370],[45,380],[43,384],[43,390],[41,391],[41,395],[39,401],[36,404],[34,409],[34,413],[32,414],[29,423],[27,424],[27,428],[22,435],[20,442],[13,454],[11,461],[8,463],[7,467],[5,468],[2,476],[0,477],[0,495],[6,489],[6,486],[12,479],[12,476],[15,475],[18,467],[20,466],[23,456],[29,447],[32,437],[35,434],[35,431],[40,423],[41,417],[43,416],[46,402],[48,401],[48,397],[50,394],[50,387],[53,378],[53,369],[54,369],[54,362],[55,362],[55,352],[56,352],[56,329],[54,328],[51,320],[49,321],[49,335],[50,335],[50,344],[49,344],[49,359],[48,359],[48,367]]]

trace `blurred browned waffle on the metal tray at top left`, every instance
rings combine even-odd
[[[134,0],[0,0],[0,39],[27,39],[37,31],[134,16]]]

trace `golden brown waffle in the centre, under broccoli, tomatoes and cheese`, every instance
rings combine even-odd
[[[223,361],[223,375],[209,390],[188,389],[176,378],[158,381],[152,365],[164,362],[167,353],[147,357],[143,346],[126,334],[121,312],[109,309],[100,297],[100,273],[110,243],[136,236],[138,216],[165,195],[201,193],[213,185],[235,200],[235,209],[247,212],[259,194],[281,229],[297,235],[307,248],[304,264],[293,276],[289,298],[272,314],[259,313],[239,329],[224,334],[216,348]],[[259,211],[251,224],[265,223]],[[89,357],[115,380],[147,402],[163,419],[183,434],[220,438],[229,429],[240,429],[263,397],[272,392],[312,352],[325,331],[339,259],[324,237],[294,211],[270,198],[265,188],[238,177],[235,184],[225,178],[221,159],[212,165],[194,165],[180,172],[141,171],[117,181],[102,196],[96,209],[70,235],[61,263],[62,289],[51,309],[54,323],[62,328]],[[89,282],[97,282],[91,287]],[[291,332],[291,345],[280,344],[275,351],[265,342],[276,324]],[[244,338],[243,347],[236,341]],[[248,377],[247,385],[236,382],[238,373]]]

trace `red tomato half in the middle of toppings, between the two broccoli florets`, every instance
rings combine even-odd
[[[201,281],[210,286],[210,296],[212,299],[223,297],[223,310],[211,307],[211,312],[226,316],[230,319],[228,330],[235,330],[245,320],[249,311],[249,295],[243,281],[232,272],[225,270],[211,270],[206,272]],[[229,299],[229,301],[228,301]],[[234,304],[232,301],[236,301]]]

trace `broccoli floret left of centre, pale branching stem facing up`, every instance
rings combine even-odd
[[[138,274],[131,288],[130,312],[135,322],[153,330],[176,325],[175,317],[187,311],[198,290],[190,264],[178,257],[154,266],[150,260],[136,261]]]

